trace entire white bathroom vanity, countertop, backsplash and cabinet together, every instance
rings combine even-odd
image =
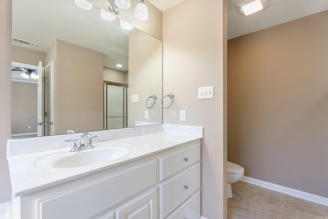
[[[55,143],[42,149],[42,142],[35,142],[41,138],[25,142],[25,147],[24,140],[10,140],[14,217],[198,219],[202,128],[153,128],[126,129],[127,135],[94,132],[99,136],[94,148],[77,152]],[[131,130],[142,134],[131,137]],[[101,141],[104,134],[126,138]],[[31,145],[34,149],[28,152]],[[104,159],[105,154],[110,158]]]

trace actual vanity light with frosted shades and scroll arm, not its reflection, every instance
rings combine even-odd
[[[108,7],[110,11],[114,11],[115,14],[119,14],[118,9],[129,9],[131,7],[131,0],[108,0],[110,6]],[[147,20],[148,19],[148,8],[144,0],[136,5],[134,10],[134,17],[138,20]]]

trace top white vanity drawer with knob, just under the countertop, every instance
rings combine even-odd
[[[159,181],[190,167],[200,160],[200,143],[159,158]]]

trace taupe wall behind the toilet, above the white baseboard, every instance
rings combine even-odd
[[[228,160],[328,197],[328,11],[228,41]]]

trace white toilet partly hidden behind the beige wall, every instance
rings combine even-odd
[[[228,199],[232,198],[232,190],[231,190],[231,183],[238,182],[242,176],[244,176],[244,168],[239,166],[238,164],[227,162],[227,196]]]

